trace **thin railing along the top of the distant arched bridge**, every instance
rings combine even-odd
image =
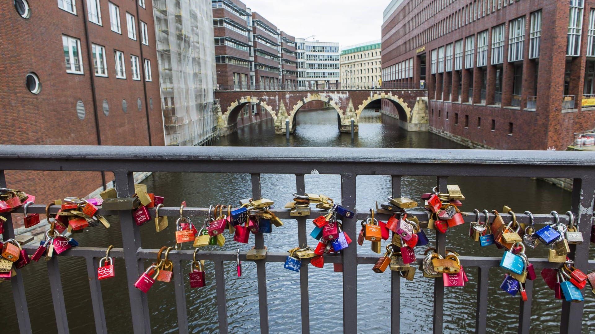
[[[308,86],[297,86],[287,84],[257,84],[253,86],[240,86],[234,84],[218,84],[217,90],[379,90],[379,89],[419,89],[415,83],[327,83],[327,84],[309,84]]]

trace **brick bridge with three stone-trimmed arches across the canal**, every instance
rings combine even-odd
[[[215,105],[217,126],[221,135],[237,131],[237,116],[248,104],[257,104],[273,116],[275,133],[286,133],[286,119],[289,118],[290,133],[296,128],[297,111],[311,101],[324,101],[337,111],[339,131],[351,131],[351,118],[358,131],[359,115],[364,108],[381,108],[381,100],[386,99],[394,106],[383,110],[399,119],[402,128],[409,131],[428,130],[427,90],[233,90],[217,91]]]

